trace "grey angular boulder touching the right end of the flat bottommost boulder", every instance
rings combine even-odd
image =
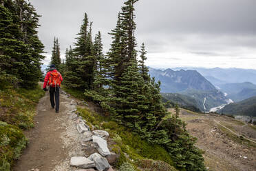
[[[107,159],[100,156],[100,154],[98,154],[98,153],[94,153],[94,154],[90,155],[88,157],[88,159],[94,161],[95,167],[96,167],[97,170],[105,171],[105,170],[108,170],[110,168],[110,165],[107,162]]]

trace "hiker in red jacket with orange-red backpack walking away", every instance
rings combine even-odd
[[[60,92],[59,88],[61,88],[61,82],[63,78],[61,73],[56,70],[54,64],[50,66],[50,71],[45,75],[45,82],[43,83],[43,90],[45,92],[48,90],[46,86],[49,86],[50,91],[50,101],[52,108],[55,106],[55,112],[58,113],[60,106]],[[55,95],[55,103],[54,103],[54,95]]]

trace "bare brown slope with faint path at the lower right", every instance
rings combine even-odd
[[[196,145],[204,150],[204,159],[209,170],[255,171],[256,130],[248,123],[217,114],[194,114],[182,110],[180,118]],[[243,136],[243,138],[241,138]]]

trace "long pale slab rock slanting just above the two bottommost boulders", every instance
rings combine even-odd
[[[98,152],[103,155],[103,157],[110,155],[109,148],[107,148],[107,141],[96,135],[92,136],[92,141],[97,145]]]

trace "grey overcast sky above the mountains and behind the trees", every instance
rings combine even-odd
[[[72,46],[84,12],[93,32],[103,34],[104,52],[116,26],[121,0],[30,0],[40,18],[39,38],[50,60],[54,36],[61,56]],[[147,47],[147,65],[256,69],[256,0],[140,0],[136,39]]]

